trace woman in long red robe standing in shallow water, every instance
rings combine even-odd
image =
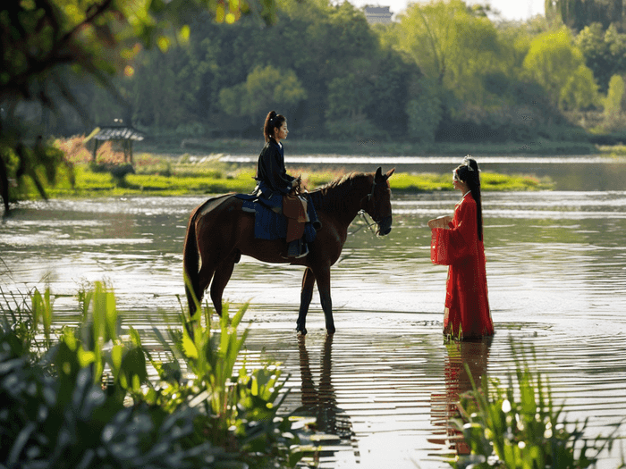
[[[465,157],[453,171],[461,202],[454,216],[428,222],[432,230],[430,260],[449,265],[445,288],[444,334],[453,339],[480,339],[494,334],[487,298],[483,215],[478,163]]]

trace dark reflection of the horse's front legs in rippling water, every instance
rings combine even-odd
[[[307,351],[304,337],[299,338],[298,346],[300,349],[302,406],[298,407],[293,414],[316,418],[316,436],[321,436],[321,441],[312,442],[312,445],[318,448],[321,447],[321,451],[316,452],[314,457],[316,459],[332,459],[336,451],[342,451],[344,454],[350,451],[354,457],[352,462],[360,464],[359,448],[352,430],[350,416],[337,406],[331,380],[333,336],[326,335],[320,362],[319,385],[317,387],[313,380],[313,373],[311,373],[309,352]]]

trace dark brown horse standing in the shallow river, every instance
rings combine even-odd
[[[326,331],[333,334],[330,267],[337,262],[348,236],[348,226],[360,210],[376,222],[378,234],[386,235],[391,231],[391,189],[387,180],[393,171],[383,174],[378,168],[376,173],[353,172],[310,192],[310,201],[322,228],[309,245],[309,255],[300,259],[283,257],[286,250],[284,239],[255,239],[254,214],[242,211],[243,201],[233,194],[210,198],[196,207],[190,215],[183,250],[191,316],[209,283],[213,305],[217,314],[222,314],[222,294],[233,274],[234,264],[241,255],[250,255],[267,263],[305,266],[296,331],[302,335],[307,333],[305,322],[313,297],[313,284],[317,281]]]

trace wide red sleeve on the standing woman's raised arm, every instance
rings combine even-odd
[[[478,253],[476,202],[465,197],[454,210],[450,230],[435,228],[430,240],[430,260],[433,264],[452,265]]]

